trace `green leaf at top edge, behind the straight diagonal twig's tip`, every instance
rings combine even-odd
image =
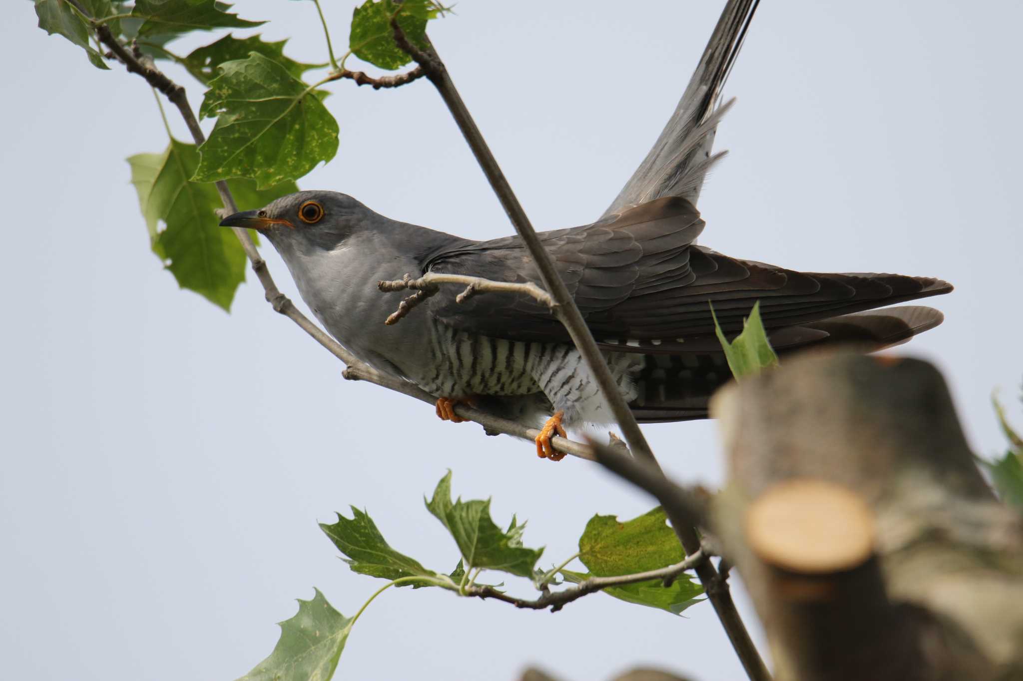
[[[381,68],[395,69],[404,66],[412,57],[394,41],[391,17],[398,12],[398,26],[409,42],[420,49],[427,48],[427,21],[435,18],[437,6],[429,0],[406,0],[400,5],[392,0],[366,0],[352,13],[352,31],[349,49],[363,61]]]

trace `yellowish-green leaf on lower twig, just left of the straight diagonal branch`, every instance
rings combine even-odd
[[[579,537],[579,560],[599,577],[666,568],[684,557],[661,506],[625,523],[615,516],[593,516]]]

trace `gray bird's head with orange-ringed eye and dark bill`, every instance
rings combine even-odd
[[[363,227],[375,213],[339,192],[306,191],[282,196],[256,210],[243,210],[220,222],[221,227],[246,227],[265,235],[274,246],[332,249]]]

